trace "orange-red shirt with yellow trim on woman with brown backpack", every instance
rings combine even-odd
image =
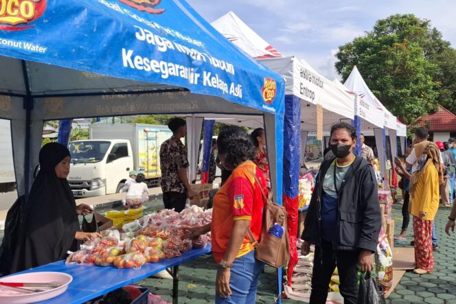
[[[262,189],[258,189],[255,179],[247,168],[255,172]],[[253,237],[260,241],[264,208],[264,200],[260,191],[264,191],[264,194],[267,191],[264,174],[253,162],[246,161],[233,170],[226,183],[214,196],[211,237],[212,254],[217,264],[223,259],[228,248],[235,220],[250,220]],[[251,250],[253,250],[253,246],[246,235],[236,258],[247,255]]]

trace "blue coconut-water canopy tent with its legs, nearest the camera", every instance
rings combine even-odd
[[[27,5],[34,14],[2,23],[0,33],[0,117],[11,121],[20,195],[32,185],[46,120],[225,115],[261,117],[275,202],[282,202],[284,81],[185,1]]]

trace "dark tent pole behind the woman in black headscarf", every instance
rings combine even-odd
[[[30,190],[30,141],[31,141],[31,125],[32,125],[32,109],[33,98],[30,93],[30,80],[27,69],[27,62],[22,60],[22,74],[25,83],[25,93],[23,108],[25,109],[25,160],[24,160],[24,185],[25,185],[25,198],[28,198]]]

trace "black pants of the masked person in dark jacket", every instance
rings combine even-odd
[[[315,247],[312,271],[312,292],[310,304],[325,304],[328,297],[332,273],[337,266],[341,283],[339,290],[345,304],[356,304],[358,300],[358,257],[359,251],[333,250],[332,243],[321,241]]]

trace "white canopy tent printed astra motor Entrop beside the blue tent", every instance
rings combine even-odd
[[[342,119],[354,119],[354,96],[344,93],[305,60],[282,57],[233,12],[211,24],[242,51],[285,78],[285,95],[295,96],[301,103],[300,163],[304,163],[308,132],[315,132],[320,126],[323,133]]]

